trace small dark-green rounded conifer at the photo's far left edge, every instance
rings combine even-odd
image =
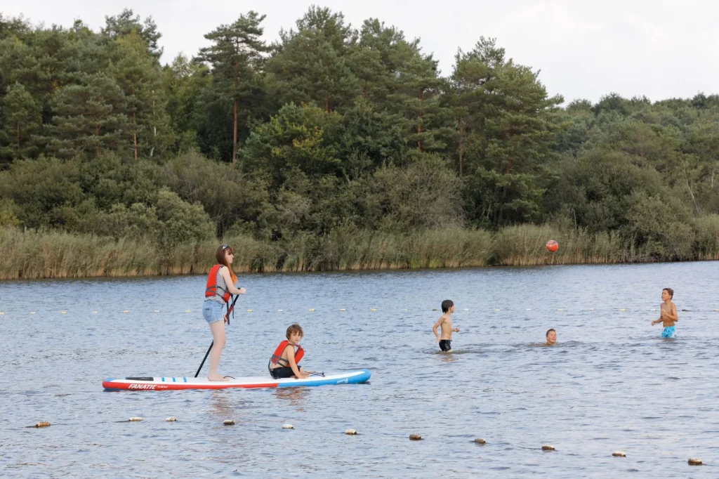
[[[24,86],[15,83],[2,99],[2,130],[0,158],[19,160],[37,152],[31,137],[40,130],[40,106]]]

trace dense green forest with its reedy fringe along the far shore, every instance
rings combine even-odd
[[[565,104],[495,39],[442,76],[379,19],[264,18],[163,65],[132,10],[0,14],[0,277],[719,259],[719,96]]]

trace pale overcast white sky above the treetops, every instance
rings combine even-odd
[[[239,14],[267,14],[267,41],[290,29],[313,2],[302,0],[32,0],[4,2],[0,12],[24,14],[33,24],[70,27],[82,19],[92,29],[105,15],[131,8],[152,16],[162,33],[162,61],[180,52],[194,55],[203,35]],[[457,48],[470,50],[480,35],[496,37],[508,57],[541,70],[550,94],[565,101],[597,101],[610,92],[647,96],[652,101],[719,93],[719,2],[713,0],[505,0],[317,1],[344,13],[359,27],[375,17],[421,38],[425,53],[452,73]]]

